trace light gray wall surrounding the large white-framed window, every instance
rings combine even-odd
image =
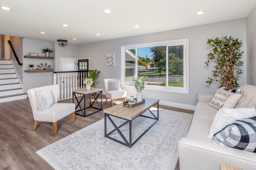
[[[232,36],[242,40],[244,51],[242,61],[244,66],[242,76],[238,83],[244,85],[246,79],[246,18],[194,26],[177,30],[151,33],[139,36],[125,37],[120,39],[88,43],[78,46],[77,58],[90,57],[90,69],[101,71],[97,87],[104,89],[104,78],[121,78],[121,46],[142,43],[170,41],[179,39],[189,39],[188,50],[188,71],[189,71],[189,94],[164,92],[157,90],[144,90],[143,96],[156,98],[162,101],[181,103],[195,106],[198,101],[198,93],[215,93],[220,84],[207,85],[207,78],[212,75],[212,70],[208,70],[204,64],[207,61],[206,54],[211,52],[207,46],[207,39],[216,37]],[[115,53],[115,66],[106,66],[106,54]],[[136,95],[135,88],[122,87],[127,91],[127,95]],[[104,90],[105,91],[105,90]]]

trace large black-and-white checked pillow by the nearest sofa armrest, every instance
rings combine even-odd
[[[256,116],[230,123],[213,136],[212,143],[255,152]]]

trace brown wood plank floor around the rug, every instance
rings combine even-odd
[[[105,95],[103,95],[103,110],[111,106],[111,101],[108,100],[105,103],[105,99]],[[114,105],[123,101],[124,99],[114,101]],[[87,95],[87,106],[89,106],[89,102],[89,95]],[[72,99],[61,100],[59,103],[72,103]],[[81,106],[84,107],[83,104]],[[98,105],[94,103],[93,106],[97,107]],[[194,114],[194,111],[191,110],[162,105],[159,107]],[[93,111],[91,108],[86,109],[86,114]],[[72,123],[71,115],[68,115],[57,122],[58,133],[53,135],[51,122],[38,122],[36,130],[32,130],[34,118],[28,98],[0,103],[0,169],[53,170],[52,166],[36,154],[36,151],[103,118],[103,111],[86,118],[75,115],[75,122]],[[178,162],[175,170],[179,169]]]

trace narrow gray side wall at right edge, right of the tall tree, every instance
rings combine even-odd
[[[256,6],[246,18],[247,83],[256,85]]]

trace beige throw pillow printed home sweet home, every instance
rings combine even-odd
[[[233,109],[242,96],[243,94],[236,94],[219,88],[209,106],[218,110],[221,108]]]

